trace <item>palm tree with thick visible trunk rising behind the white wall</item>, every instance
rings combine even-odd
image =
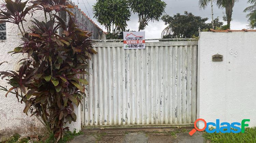
[[[230,29],[230,22],[232,20],[232,12],[234,3],[238,0],[214,0],[218,6],[218,8],[226,9],[227,16],[227,27]],[[198,5],[201,9],[205,9],[207,5],[211,2],[211,0],[199,0]]]

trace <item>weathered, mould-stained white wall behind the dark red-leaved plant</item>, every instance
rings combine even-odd
[[[40,12],[34,13],[33,17],[43,20],[44,15]],[[25,30],[28,30],[28,26],[32,24],[29,20],[29,16],[26,17],[28,22],[25,22]],[[18,47],[22,42],[21,33],[18,31],[18,26],[12,23],[6,23],[6,40],[0,40],[0,62],[8,61],[0,66],[0,71],[19,70],[20,65],[17,62],[27,57],[24,54],[8,54],[9,51],[13,51],[15,47]],[[8,86],[8,81],[0,78],[0,85],[3,87]],[[8,86],[10,88],[10,86]],[[5,91],[0,90],[0,138],[4,136],[11,136],[14,133],[20,135],[33,135],[43,133],[44,128],[37,118],[31,118],[30,114],[27,116],[23,113],[25,103],[20,104],[17,101],[16,95],[9,93],[5,97]]]

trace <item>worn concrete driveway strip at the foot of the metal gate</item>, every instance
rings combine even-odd
[[[190,136],[191,129],[87,129],[69,143],[203,143],[201,132]]]

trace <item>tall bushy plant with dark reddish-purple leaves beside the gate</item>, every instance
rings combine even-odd
[[[76,75],[86,74],[87,59],[96,54],[88,40],[91,33],[77,28],[73,14],[67,10],[73,6],[66,0],[30,1],[31,6],[26,6],[28,1],[5,2],[6,11],[1,11],[0,22],[17,24],[23,35],[20,46],[10,53],[26,53],[27,58],[18,62],[21,66],[17,71],[0,72],[11,86],[1,86],[1,90],[7,91],[5,96],[13,93],[20,103],[24,102],[24,113],[37,117],[58,141],[66,129],[63,125],[76,121],[74,105],[78,106],[85,94],[80,83],[86,85],[87,81]],[[25,16],[42,12],[38,10],[43,10],[45,21],[33,19],[30,31],[25,31]],[[57,15],[60,11],[68,12],[68,24]],[[58,33],[60,28],[63,33]]]

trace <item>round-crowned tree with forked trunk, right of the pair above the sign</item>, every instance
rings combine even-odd
[[[144,30],[150,20],[159,21],[166,7],[161,0],[128,0],[128,4],[133,13],[138,13],[139,31]]]

